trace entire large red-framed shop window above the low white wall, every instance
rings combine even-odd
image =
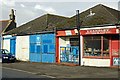
[[[84,36],[84,56],[109,56],[109,37]]]

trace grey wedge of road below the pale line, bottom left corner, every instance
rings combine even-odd
[[[32,72],[2,67],[2,78],[49,78]]]

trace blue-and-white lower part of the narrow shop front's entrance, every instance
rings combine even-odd
[[[78,63],[78,46],[60,47],[60,61],[68,63]]]

